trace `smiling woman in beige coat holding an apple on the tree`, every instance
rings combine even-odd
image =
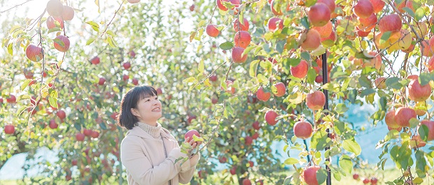
[[[158,123],[160,117],[161,102],[153,87],[134,87],[121,101],[118,124],[128,131],[120,160],[127,169],[128,184],[187,184],[193,177],[200,154],[187,159],[174,136]],[[193,149],[200,145],[190,138],[185,142]]]

